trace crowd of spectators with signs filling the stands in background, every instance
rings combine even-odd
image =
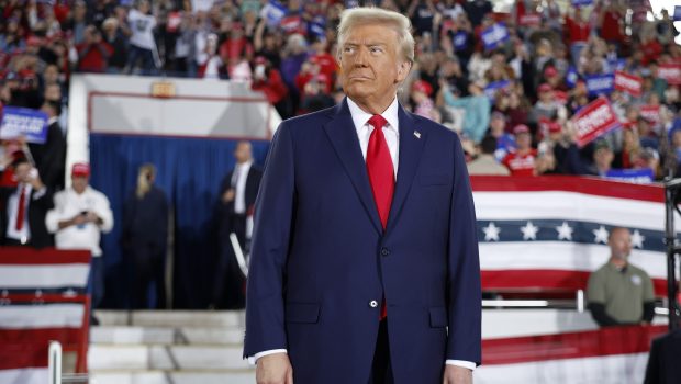
[[[80,71],[247,81],[283,118],[316,111],[344,95],[335,30],[351,5],[4,0],[0,104],[53,109],[64,117],[69,76]],[[491,136],[494,159],[512,176],[646,169],[651,181],[679,168],[681,81],[658,76],[660,66],[681,63],[668,10],[650,19],[648,1],[622,0],[567,9],[554,0],[517,0],[509,13],[494,12],[489,0],[375,5],[413,24],[416,63],[402,104],[459,132],[469,160],[483,155],[481,143]],[[489,32],[500,25],[506,35],[490,44]],[[640,78],[640,92],[590,89],[590,77],[616,70]],[[598,97],[607,98],[619,124],[584,145],[570,118]],[[66,129],[66,120],[59,122]]]

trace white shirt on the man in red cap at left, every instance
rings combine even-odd
[[[88,249],[92,257],[101,257],[102,249],[99,247],[102,233],[109,233],[113,228],[113,213],[109,206],[109,199],[87,187],[78,194],[72,188],[60,191],[54,196],[55,207],[47,213],[45,225],[51,234],[55,234],[55,247],[57,249]],[[59,229],[59,222],[74,218],[83,211],[94,213],[102,219],[101,225],[87,223],[71,225]]]

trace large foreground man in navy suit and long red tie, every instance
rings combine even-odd
[[[405,112],[409,19],[345,11],[347,98],[279,127],[256,202],[244,355],[258,383],[471,383],[480,267],[457,135]]]

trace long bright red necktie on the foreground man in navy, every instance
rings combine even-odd
[[[388,149],[388,143],[386,143],[386,136],[383,136],[383,126],[387,123],[386,118],[381,115],[373,115],[369,118],[369,124],[373,126],[373,132],[371,132],[369,146],[367,148],[367,171],[369,172],[373,201],[376,202],[383,230],[388,224],[388,215],[390,214],[390,205],[392,204],[392,193],[395,187],[392,157]],[[383,298],[381,303],[381,320],[384,319],[386,316],[386,298]]]

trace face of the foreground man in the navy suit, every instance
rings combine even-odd
[[[398,56],[397,45],[398,33],[387,25],[357,25],[348,31],[339,64],[343,89],[349,98],[359,104],[388,106],[410,68]]]

